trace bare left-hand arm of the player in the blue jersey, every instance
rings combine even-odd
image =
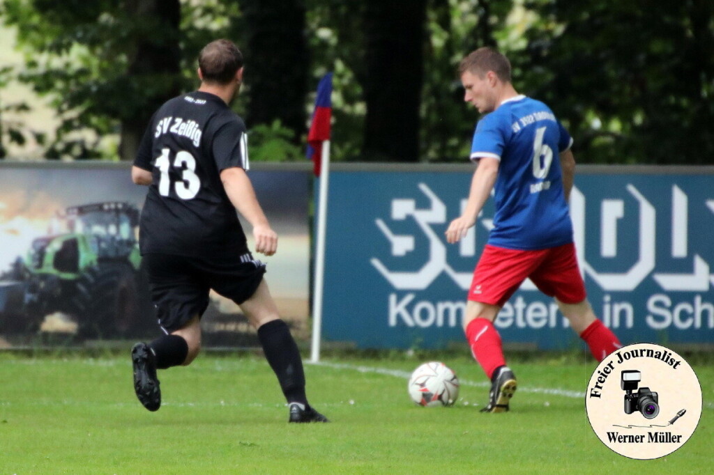
[[[478,160],[478,167],[471,180],[471,190],[468,192],[466,209],[460,218],[451,221],[446,230],[446,241],[449,244],[461,240],[466,236],[468,228],[476,223],[476,217],[488,200],[488,196],[491,195],[493,184],[496,183],[498,165],[499,162],[496,158],[483,157]]]

